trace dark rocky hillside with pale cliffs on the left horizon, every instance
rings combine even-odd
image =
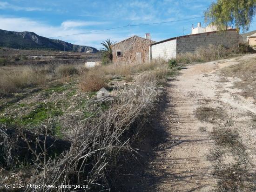
[[[91,46],[79,46],[62,40],[52,40],[33,32],[13,32],[0,30],[0,46],[20,49],[51,49],[74,52],[96,53],[97,49]]]

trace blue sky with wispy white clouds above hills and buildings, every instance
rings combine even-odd
[[[0,29],[30,31],[40,36],[76,45],[101,47],[110,39],[121,41],[130,36],[155,41],[191,33],[192,24],[205,26],[203,12],[212,0],[0,0]],[[197,18],[196,18],[197,17]],[[195,19],[191,19],[195,18]],[[191,19],[191,20],[186,20]],[[183,20],[177,22],[168,22]],[[154,25],[128,26],[167,22]],[[97,30],[113,30],[88,33]],[[256,29],[256,19],[249,31]],[[69,34],[87,33],[80,35]],[[56,38],[53,38],[56,37]]]

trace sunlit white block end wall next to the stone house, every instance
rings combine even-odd
[[[169,60],[176,58],[176,40],[169,40],[149,47],[151,59]]]

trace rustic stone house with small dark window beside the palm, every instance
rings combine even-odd
[[[155,41],[152,41],[149,38],[146,39],[138,37],[136,35],[121,42],[115,43],[112,45],[113,63],[146,63],[149,61],[148,46],[153,43],[155,43]]]

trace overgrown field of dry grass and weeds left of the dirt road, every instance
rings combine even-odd
[[[170,73],[164,61],[1,66],[1,184],[115,185],[110,175],[122,158],[134,158],[132,146]],[[94,102],[102,87],[114,101]]]

